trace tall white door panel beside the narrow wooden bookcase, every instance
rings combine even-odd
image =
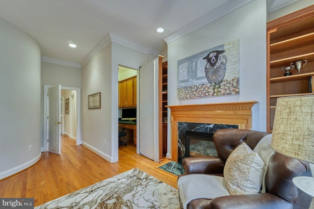
[[[139,152],[159,161],[158,58],[139,70]]]

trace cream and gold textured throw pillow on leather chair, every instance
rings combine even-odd
[[[224,179],[231,195],[257,194],[261,189],[264,162],[242,143],[228,157]]]

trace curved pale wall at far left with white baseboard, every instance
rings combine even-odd
[[[2,19],[0,28],[0,179],[3,179],[41,157],[40,47],[24,31]]]

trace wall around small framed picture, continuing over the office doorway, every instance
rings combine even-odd
[[[146,59],[110,42],[82,68],[82,144],[110,162],[118,161],[118,65],[137,69]],[[96,92],[101,92],[102,107],[88,109],[87,96]]]

